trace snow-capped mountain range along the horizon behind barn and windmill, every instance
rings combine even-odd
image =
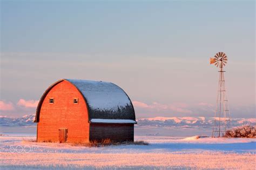
[[[36,126],[33,123],[36,114],[24,115],[20,118],[3,117],[0,115],[0,126]],[[137,126],[159,126],[159,127],[212,127],[214,118],[206,117],[155,117],[137,119]],[[234,118],[232,126],[256,125],[256,119]]]

